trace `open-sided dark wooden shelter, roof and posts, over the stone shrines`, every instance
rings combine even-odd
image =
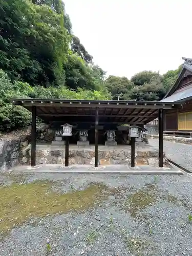
[[[11,99],[32,112],[31,165],[35,163],[36,117],[47,123],[88,123],[95,126],[95,166],[98,166],[98,125],[141,124],[158,117],[159,166],[163,167],[164,111],[177,111],[182,102],[116,101],[116,100],[62,100],[62,99]],[[67,145],[67,144],[66,144]],[[135,145],[133,145],[133,148]],[[66,148],[69,152],[69,145]],[[135,152],[132,151],[132,156]],[[68,157],[68,155],[66,155]],[[133,157],[132,157],[133,159]],[[66,159],[67,161],[67,159]],[[133,161],[132,161],[133,162]]]

